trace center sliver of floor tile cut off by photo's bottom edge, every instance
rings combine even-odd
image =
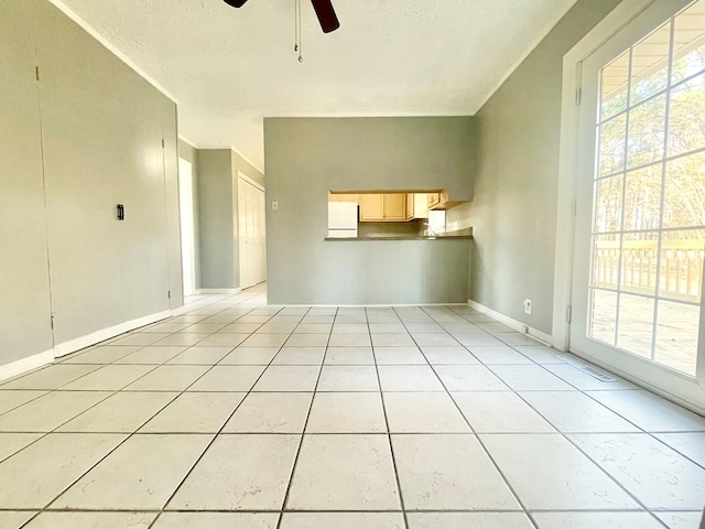
[[[401,512],[285,512],[281,529],[405,529]]]

